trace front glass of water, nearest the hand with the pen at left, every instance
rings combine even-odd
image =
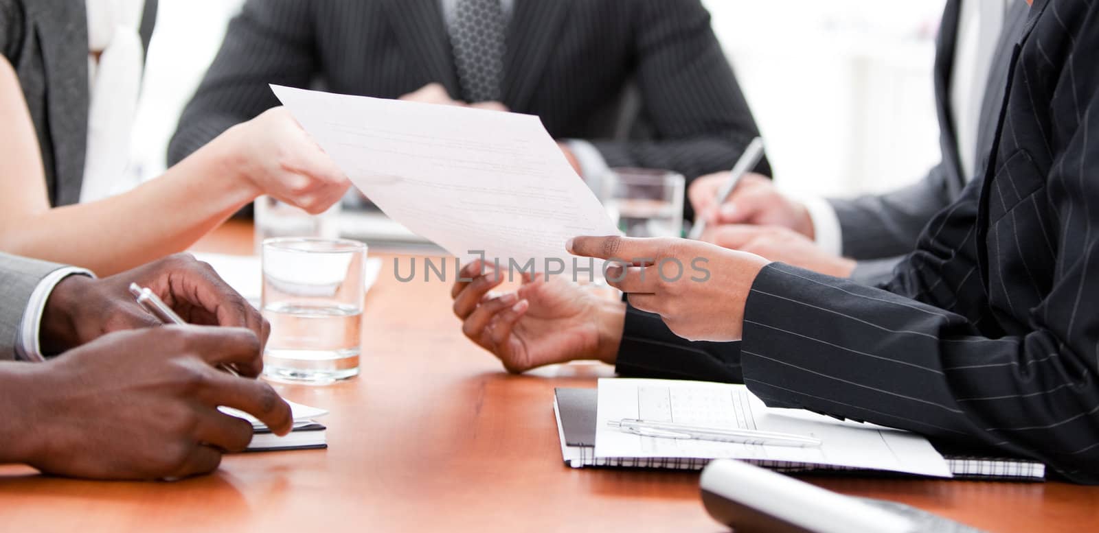
[[[323,385],[358,374],[366,252],[344,239],[264,241],[265,376]]]

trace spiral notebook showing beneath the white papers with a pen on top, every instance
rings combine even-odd
[[[555,389],[554,413],[557,417],[557,433],[560,439],[562,456],[566,465],[573,468],[623,467],[699,470],[710,462],[709,458],[701,457],[597,457],[596,417],[598,402],[598,392],[593,388]],[[1045,480],[1045,465],[1035,461],[943,445],[935,445],[935,447],[946,460],[955,479]],[[748,460],[747,462],[784,473],[904,475],[791,461]]]

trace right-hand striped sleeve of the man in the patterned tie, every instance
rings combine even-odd
[[[728,170],[758,135],[699,0],[636,2],[636,82],[653,140],[593,141],[611,167]],[[758,167],[770,173],[766,162]]]

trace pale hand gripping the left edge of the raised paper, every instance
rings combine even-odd
[[[244,179],[256,196],[276,200],[319,214],[343,197],[351,182],[285,107],[226,132],[230,172]]]

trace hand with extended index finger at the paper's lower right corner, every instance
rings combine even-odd
[[[744,329],[744,304],[768,261],[687,239],[577,237],[568,251],[606,259],[607,283],[634,307],[655,313],[687,340],[734,341]]]

